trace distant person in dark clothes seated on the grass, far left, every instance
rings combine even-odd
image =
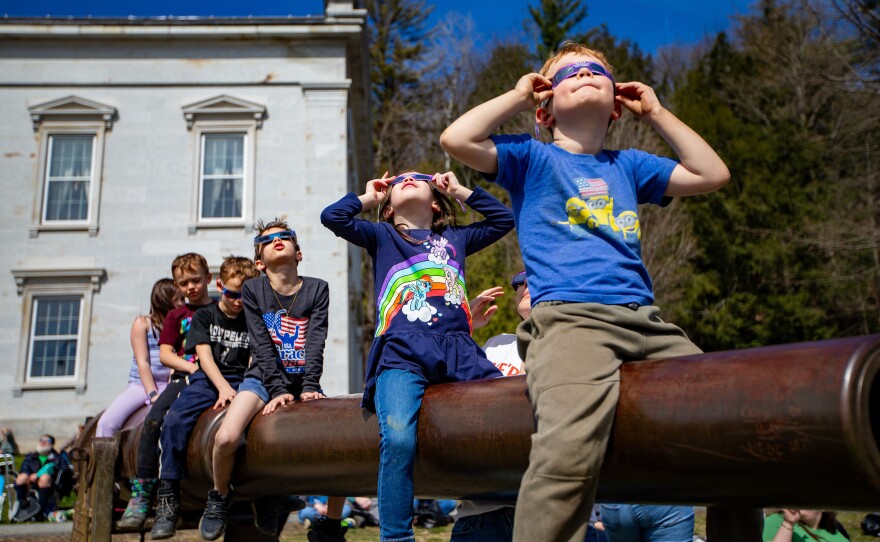
[[[50,499],[55,491],[55,475],[69,465],[67,456],[55,451],[55,437],[40,437],[37,451],[25,456],[21,472],[15,478],[15,495],[20,503],[12,521],[23,523],[32,518],[44,521],[51,512]],[[33,486],[36,485],[36,491]]]

